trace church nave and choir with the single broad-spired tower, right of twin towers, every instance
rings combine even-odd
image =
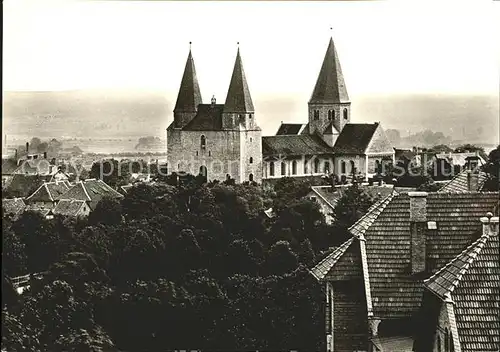
[[[282,123],[262,138],[263,178],[355,175],[367,180],[394,162],[394,149],[380,123],[351,123],[351,101],[330,38],[308,104],[308,123]]]

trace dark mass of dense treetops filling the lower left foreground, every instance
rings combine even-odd
[[[272,192],[172,183],[103,199],[85,220],[4,219],[3,291],[45,275],[3,300],[2,349],[323,349],[324,295],[307,268],[345,229],[294,180]]]

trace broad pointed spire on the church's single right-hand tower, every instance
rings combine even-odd
[[[342,75],[340,60],[337,56],[337,50],[330,38],[325,59],[319,72],[316,86],[309,103],[348,103],[349,95]]]

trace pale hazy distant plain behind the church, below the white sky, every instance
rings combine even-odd
[[[165,139],[176,93],[5,92],[3,133],[8,144],[33,136],[68,141],[86,152],[133,151],[140,137]],[[495,96],[354,96],[352,122],[380,121],[401,136],[430,129],[460,142],[498,144],[499,104]],[[307,122],[307,98],[254,96],[263,135],[281,121]],[[70,143],[71,142],[71,143]],[[161,148],[160,148],[161,149]]]

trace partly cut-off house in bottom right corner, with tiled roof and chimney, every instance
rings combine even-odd
[[[424,281],[415,352],[500,350],[498,217],[482,217],[482,232]]]

